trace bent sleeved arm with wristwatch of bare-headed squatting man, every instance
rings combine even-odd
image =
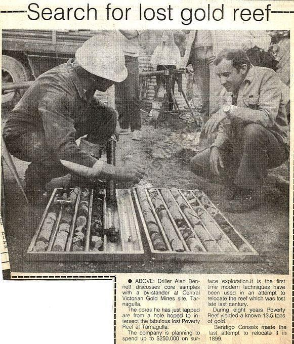
[[[271,128],[276,120],[281,101],[280,80],[276,73],[264,75],[260,87],[257,109],[249,107],[230,106],[228,118],[237,124],[257,123]],[[250,104],[248,104],[249,106]]]

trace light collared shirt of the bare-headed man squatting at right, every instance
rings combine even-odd
[[[229,94],[224,93],[224,99]],[[228,119],[219,126],[213,146],[225,149],[235,138],[241,136],[242,128],[257,123],[272,132],[277,140],[288,147],[288,121],[281,92],[281,81],[276,72],[266,67],[249,69],[237,96],[237,105],[230,106]]]

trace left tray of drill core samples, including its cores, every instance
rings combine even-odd
[[[63,199],[71,199],[71,204]],[[143,260],[143,244],[130,190],[54,189],[27,250],[32,261]]]

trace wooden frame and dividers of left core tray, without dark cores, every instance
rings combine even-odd
[[[89,212],[86,225],[85,245],[80,251],[73,251],[72,240],[74,236],[75,222],[77,219],[77,211],[79,207],[82,190],[79,190],[74,204],[74,214],[67,237],[64,251],[54,251],[56,235],[58,233],[60,220],[64,211],[63,205],[59,208],[57,219],[53,226],[50,240],[45,251],[35,251],[35,245],[38,241],[39,233],[43,227],[50,209],[54,205],[54,199],[57,195],[62,195],[63,189],[54,189],[47,207],[43,213],[40,224],[32,238],[28,247],[26,257],[31,261],[138,261],[143,260],[144,249],[139,231],[137,218],[135,216],[134,204],[130,190],[116,190],[116,206],[108,206],[105,200],[105,190],[101,190],[101,198],[103,199],[103,227],[109,229],[114,226],[119,231],[119,240],[115,243],[110,242],[106,234],[103,235],[103,245],[98,250],[93,251],[90,247],[91,239],[91,218],[95,210],[93,199],[97,196],[97,191],[90,191]],[[105,233],[107,231],[104,231]]]

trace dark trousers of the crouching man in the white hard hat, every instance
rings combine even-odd
[[[100,104],[91,106],[75,124],[75,140],[88,134],[86,140],[100,145],[102,153],[107,140],[114,133],[116,117],[116,111],[110,107]],[[13,139],[6,137],[4,133],[4,140],[13,156],[23,161],[32,161],[29,168],[37,170],[38,177],[43,179],[44,183],[68,174],[57,154],[48,147],[44,131],[30,127],[26,133],[19,136],[13,133]]]

